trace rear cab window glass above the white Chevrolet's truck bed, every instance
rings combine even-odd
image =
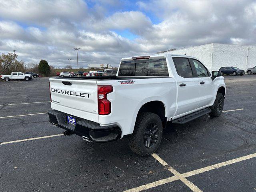
[[[166,58],[122,61],[118,76],[161,76],[168,77]]]

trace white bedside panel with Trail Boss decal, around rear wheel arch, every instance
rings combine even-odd
[[[98,85],[112,84],[114,89],[107,96],[111,101],[111,113],[106,116],[99,115],[99,123],[101,125],[118,124],[122,130],[122,136],[133,132],[138,111],[147,102],[162,102],[166,117],[175,113],[176,82],[174,78],[134,79],[132,84],[121,84],[118,80],[97,83]]]

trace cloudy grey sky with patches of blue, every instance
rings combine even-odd
[[[0,0],[0,52],[50,65],[208,43],[256,45],[256,0]]]

